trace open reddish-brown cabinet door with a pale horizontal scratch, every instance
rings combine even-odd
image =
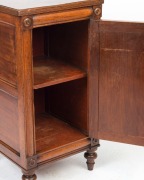
[[[98,138],[144,145],[144,24],[99,28]]]

